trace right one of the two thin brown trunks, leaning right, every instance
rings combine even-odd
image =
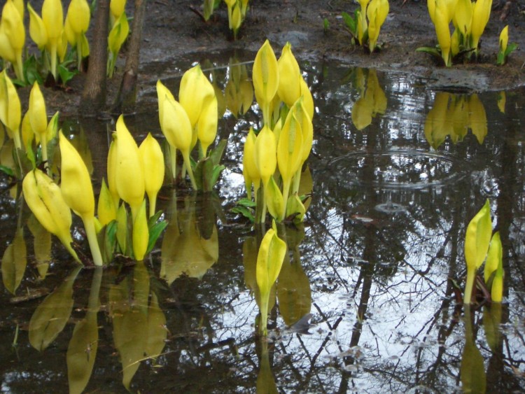
[[[139,76],[142,26],[146,15],[146,0],[135,0],[135,13],[130,37],[130,49],[126,57],[124,75],[120,83],[113,113],[132,113],[137,99],[137,77]]]

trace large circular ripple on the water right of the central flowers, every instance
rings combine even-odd
[[[343,185],[372,184],[380,188],[429,188],[463,178],[461,162],[424,150],[353,152],[330,163]]]

